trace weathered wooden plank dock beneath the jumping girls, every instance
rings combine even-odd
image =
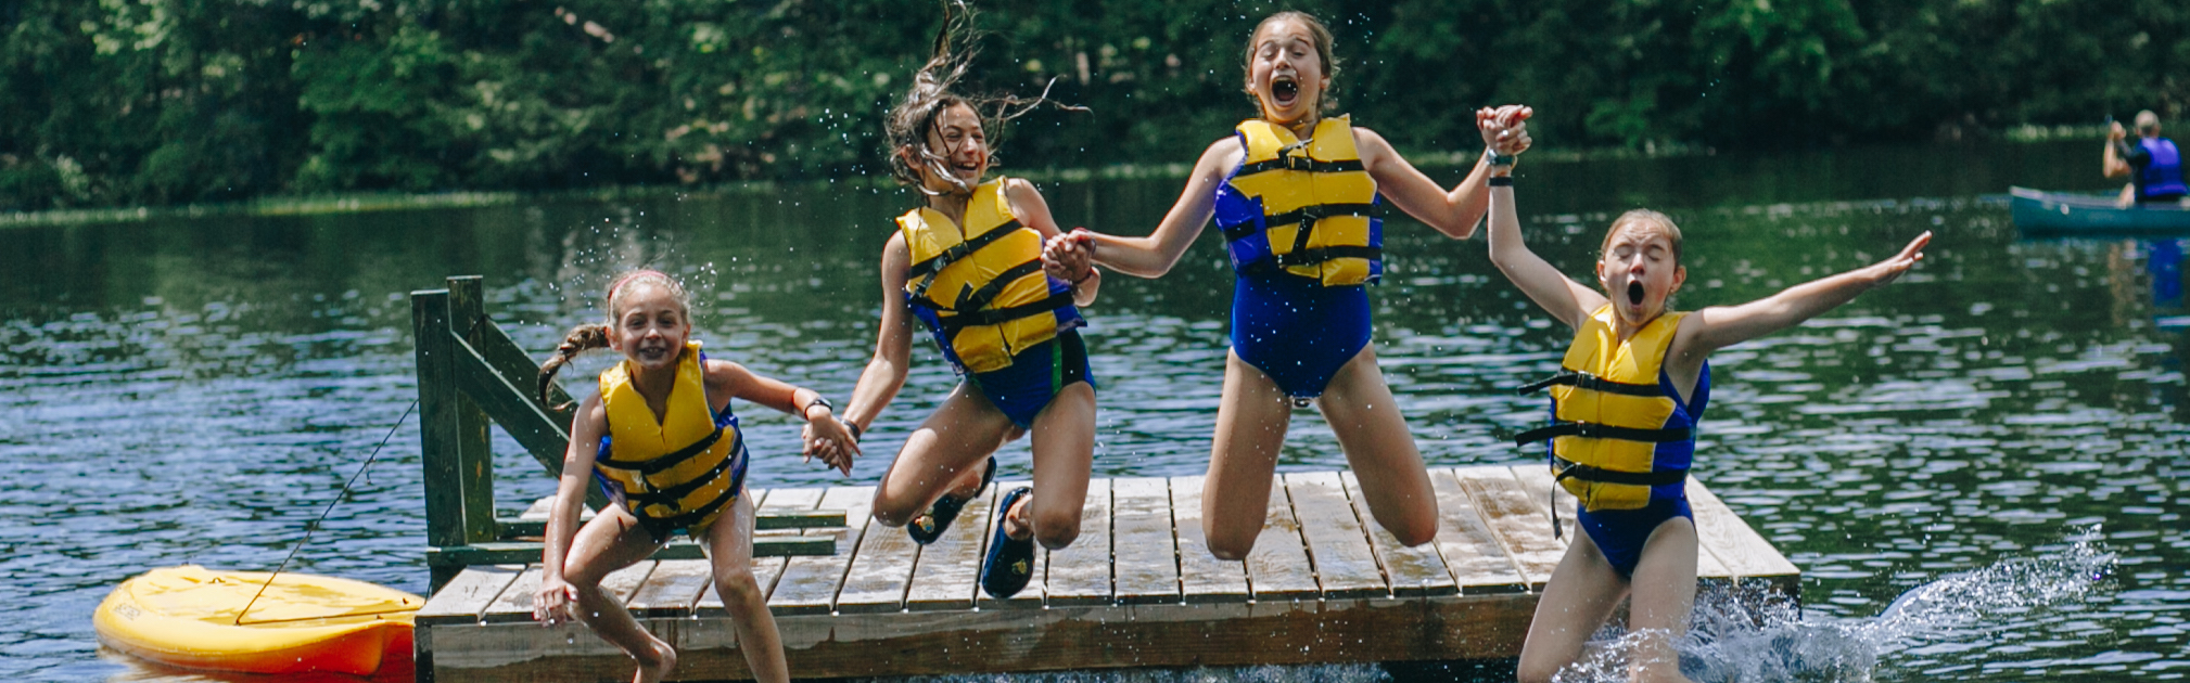
[[[1437,541],[1402,547],[1349,473],[1286,473],[1253,556],[1202,543],[1202,477],[1095,479],[1080,541],[1038,554],[1012,600],[977,589],[992,506],[966,506],[935,545],[869,519],[872,486],[753,490],[764,512],[843,510],[834,554],[762,558],[791,674],[979,674],[1518,657],[1535,591],[1566,552],[1542,464],[1432,468]],[[1572,539],[1572,497],[1559,493]],[[1704,582],[1798,593],[1798,569],[1688,482]],[[819,539],[817,539],[819,536]],[[615,681],[631,659],[583,626],[532,622],[537,565],[475,565],[418,613],[418,681]],[[705,560],[646,560],[607,580],[679,650],[677,681],[749,679]]]

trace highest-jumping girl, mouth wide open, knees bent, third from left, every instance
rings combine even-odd
[[[1224,230],[1237,282],[1231,352],[1202,495],[1209,552],[1240,560],[1261,534],[1277,451],[1292,407],[1329,420],[1378,523],[1406,545],[1437,534],[1437,495],[1415,438],[1369,346],[1369,293],[1384,274],[1382,201],[1467,239],[1483,219],[1494,162],[1529,149],[1526,114],[1483,129],[1485,160],[1454,190],[1439,188],[1375,131],[1332,107],[1332,33],[1312,15],[1261,20],[1246,44],[1246,94],[1259,118],[1240,123],[1194,166],[1185,193],[1148,236],[1075,230],[1053,258],[1091,252],[1097,265],[1154,278],[1211,221]]]

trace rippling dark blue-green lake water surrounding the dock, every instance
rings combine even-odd
[[[1754,300],[1938,234],[1894,287],[1713,359],[1697,475],[1805,580],[1800,613],[1750,620],[1706,600],[1686,648],[1693,672],[2190,672],[2181,245],[2026,241],[2004,204],[1980,197],[2008,184],[2102,188],[2096,155],[2096,142],[2045,142],[1522,164],[1531,245],[1568,274],[1588,271],[1610,215],[1671,212],[1688,236],[1682,309]],[[1064,223],[1139,234],[1178,182],[1042,190]],[[13,473],[0,479],[0,514],[13,519],[0,525],[0,576],[18,604],[0,622],[0,679],[197,679],[99,652],[92,606],[147,567],[280,563],[416,396],[407,291],[482,274],[488,313],[545,350],[600,315],[609,274],[668,269],[692,285],[712,352],[841,403],[874,344],[876,254],[909,204],[817,184],[0,230],[0,458]],[[1491,269],[1480,239],[1445,241],[1408,219],[1386,234],[1375,344],[1424,455],[1524,458],[1498,436],[1540,420],[1542,403],[1507,387],[1553,370],[1568,331]],[[1088,311],[1099,475],[1207,468],[1231,274],[1215,236],[1202,241],[1163,280],[1113,274]],[[580,363],[574,387],[607,363]],[[915,366],[850,479],[799,462],[791,418],[740,407],[753,482],[872,484],[953,383],[929,346]],[[495,438],[499,506],[548,495],[552,479]],[[1005,475],[1025,466],[1025,444],[1007,447]],[[1303,412],[1281,468],[1338,466],[1329,429]],[[423,514],[412,420],[293,569],[425,591]],[[1618,655],[1614,644],[1594,674],[1577,674],[1603,679]]]

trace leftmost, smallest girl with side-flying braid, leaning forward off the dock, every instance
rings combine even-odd
[[[845,473],[852,436],[821,394],[707,359],[692,339],[690,298],[670,276],[624,274],[609,285],[607,302],[607,324],[574,328],[541,366],[541,403],[548,403],[554,374],[576,355],[604,346],[624,355],[600,372],[600,392],[572,418],[532,617],[545,626],[578,617],[637,659],[631,681],[661,681],[677,668],[677,650],[646,633],[600,580],[653,556],[670,534],[688,532],[714,565],[716,595],[738,626],[753,679],[791,681],[775,617],[753,580],[749,458],[729,398],[804,416],[806,453]],[[600,482],[611,506],[578,528],[587,479]]]

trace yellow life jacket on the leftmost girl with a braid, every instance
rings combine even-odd
[[[668,412],[659,418],[631,383],[629,366],[622,361],[600,372],[609,436],[593,471],[655,536],[679,528],[703,530],[745,488],[738,418],[729,407],[721,416],[707,409],[699,342],[685,342]]]

